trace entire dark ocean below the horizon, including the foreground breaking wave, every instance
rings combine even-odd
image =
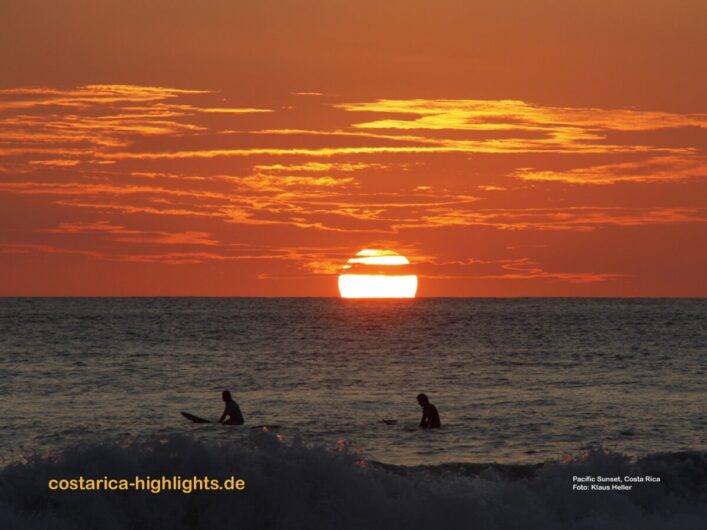
[[[0,527],[704,529],[706,324],[703,299],[0,299]],[[243,427],[180,415],[226,389]],[[229,469],[244,493],[45,480]]]

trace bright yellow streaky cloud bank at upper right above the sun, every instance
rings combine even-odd
[[[610,144],[607,132],[707,127],[707,114],[552,107],[519,100],[384,99],[337,106],[347,112],[396,116],[358,122],[352,125],[356,129],[517,134],[480,141],[439,140],[441,145],[469,152],[643,152],[651,147]]]

